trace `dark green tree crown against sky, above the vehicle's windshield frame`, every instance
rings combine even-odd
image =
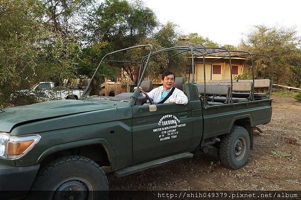
[[[105,0],[95,8],[84,28],[92,44],[114,42],[118,48],[128,47],[150,35],[158,25],[155,13],[142,1]]]

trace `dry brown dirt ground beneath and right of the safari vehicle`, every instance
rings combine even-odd
[[[230,170],[216,149],[124,177],[108,175],[111,190],[301,190],[301,103],[273,96],[270,123],[255,130],[247,164]]]

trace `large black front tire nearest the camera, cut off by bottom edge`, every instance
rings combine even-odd
[[[108,190],[107,177],[96,162],[71,155],[39,170],[29,199],[108,199]]]

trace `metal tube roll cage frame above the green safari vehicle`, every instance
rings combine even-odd
[[[134,48],[145,48],[145,47],[149,47],[149,53],[145,56],[142,57],[141,61],[140,62],[137,62],[137,61],[128,61],[128,60],[112,60],[112,59],[105,59],[108,55],[112,55],[112,54],[115,54],[117,52],[122,52],[122,51],[127,51],[129,49],[134,49]],[[205,50],[218,50],[218,51],[211,51],[211,52],[206,52]],[[116,50],[116,51],[113,51],[113,52],[110,52],[110,53],[107,53],[105,54],[101,61],[99,62],[96,70],[94,71],[89,83],[88,83],[88,86],[86,87],[86,89],[84,90],[83,94],[82,94],[82,97],[80,99],[84,99],[88,93],[91,91],[91,83],[93,82],[94,78],[95,78],[95,75],[97,74],[97,71],[99,70],[99,67],[101,66],[101,64],[105,61],[105,62],[123,62],[123,63],[132,63],[132,64],[139,64],[140,67],[139,67],[139,73],[138,73],[138,83],[137,83],[137,88],[140,86],[141,82],[142,82],[142,79],[143,79],[143,75],[145,73],[145,70],[147,68],[147,65],[149,63],[149,60],[150,60],[150,57],[152,56],[155,56],[157,54],[160,54],[160,53],[164,53],[164,52],[168,52],[168,51],[174,51],[174,50],[181,50],[180,52],[177,52],[173,55],[171,55],[169,58],[168,58],[168,68],[169,68],[169,63],[170,63],[170,60],[175,57],[176,55],[179,55],[181,53],[185,53],[185,52],[190,52],[191,53],[191,61],[190,61],[190,64],[192,65],[192,81],[190,82],[190,68],[189,68],[189,76],[188,76],[188,82],[192,83],[192,84],[195,84],[195,63],[202,63],[204,64],[204,96],[206,95],[206,64],[210,64],[211,65],[211,69],[210,69],[210,79],[212,79],[212,66],[213,66],[213,62],[219,60],[219,59],[223,59],[223,58],[226,58],[226,57],[229,57],[229,65],[230,65],[230,81],[231,81],[231,85],[230,85],[230,102],[232,102],[232,87],[233,87],[233,78],[232,78],[232,62],[231,62],[231,56],[250,56],[250,59],[251,59],[251,70],[252,70],[252,90],[251,90],[251,100],[254,100],[254,76],[255,76],[255,73],[254,73],[254,60],[253,60],[253,56],[265,56],[265,57],[268,57],[269,60],[270,60],[270,67],[271,67],[271,75],[270,75],[270,78],[271,78],[271,86],[270,86],[270,89],[268,91],[268,94],[270,95],[270,92],[271,92],[271,88],[272,88],[272,82],[273,82],[273,66],[272,66],[272,58],[269,56],[269,55],[265,55],[265,54],[257,54],[257,53],[250,53],[250,52],[247,52],[247,51],[241,51],[241,50],[228,50],[226,48],[219,48],[219,47],[198,47],[198,48],[192,48],[190,46],[174,46],[174,47],[170,47],[170,48],[165,48],[165,49],[161,49],[161,50],[158,50],[158,51],[154,51],[154,47],[152,44],[144,44],[144,45],[136,45],[136,46],[131,46],[131,47],[128,47],[128,48],[123,48],[123,49],[120,49],[120,50]],[[205,52],[204,52],[205,51]],[[198,54],[195,54],[195,52],[197,52]],[[219,53],[219,52],[227,52],[228,55],[227,56],[222,56],[222,57],[218,57],[214,60],[212,60],[211,62],[205,62],[205,56],[206,55],[209,55],[209,54],[212,54],[212,53]],[[240,54],[231,54],[231,52],[240,52]],[[200,55],[201,54],[201,55]],[[199,57],[203,57],[203,62],[196,62],[194,61],[195,58],[199,58]],[[134,105],[137,97],[139,95],[139,91],[138,89],[135,89],[134,92],[133,92],[133,95],[131,96],[131,99],[129,101],[129,104],[130,105]],[[207,101],[206,101],[206,98],[204,98],[204,104],[206,104]]]

